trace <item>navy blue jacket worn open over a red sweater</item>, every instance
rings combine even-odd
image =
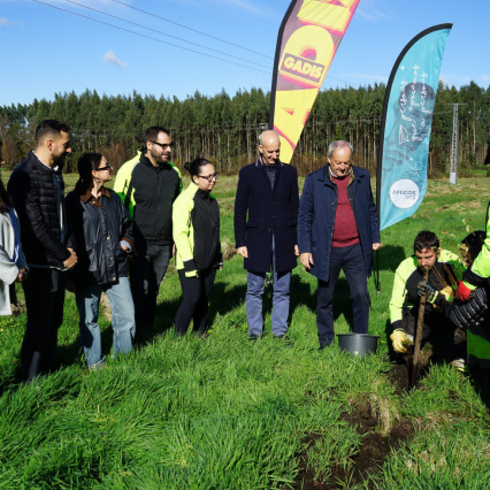
[[[298,245],[301,253],[313,255],[310,269],[318,279],[328,281],[330,256],[334,238],[338,190],[330,179],[329,165],[305,179],[298,214]],[[380,227],[373,201],[369,172],[352,166],[354,178],[347,186],[347,195],[354,211],[357,231],[364,255],[366,275],[371,275],[373,243],[380,243]]]

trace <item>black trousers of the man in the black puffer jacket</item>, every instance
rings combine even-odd
[[[20,348],[23,381],[55,368],[58,329],[63,322],[65,278],[62,271],[31,267],[22,283],[27,326]]]

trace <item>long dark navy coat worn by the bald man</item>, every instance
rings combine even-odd
[[[286,272],[296,267],[298,201],[298,174],[291,165],[278,164],[273,189],[260,160],[240,170],[235,197],[235,241],[236,248],[247,247],[245,269],[271,270],[273,234],[276,270]]]

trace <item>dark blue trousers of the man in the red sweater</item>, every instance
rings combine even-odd
[[[341,269],[344,270],[351,290],[353,331],[359,334],[368,333],[371,301],[361,245],[356,243],[348,247],[332,247],[329,280],[318,280],[317,328],[320,344],[328,345],[334,340],[333,297]]]

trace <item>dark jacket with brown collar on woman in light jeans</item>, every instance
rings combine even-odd
[[[121,240],[133,247],[132,223],[121,198],[102,187],[99,199],[76,189],[66,196],[66,216],[70,222],[68,246],[76,252],[73,269],[76,284],[111,284],[127,276],[127,254]]]

